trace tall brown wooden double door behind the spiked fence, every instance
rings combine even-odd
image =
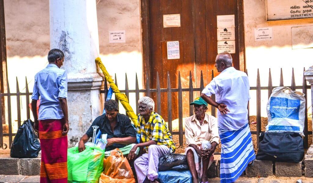
[[[144,60],[148,69],[152,87],[156,87],[156,73],[160,78],[161,88],[167,88],[167,72],[170,74],[172,88],[177,88],[178,72],[182,87],[189,86],[189,73],[192,75],[193,87],[200,87],[201,71],[204,86],[211,81],[211,72],[217,76],[214,67],[218,54],[217,15],[234,15],[235,17],[235,53],[233,66],[244,70],[244,27],[243,0],[142,0],[141,16],[144,42]],[[164,27],[163,15],[179,14],[180,27]],[[145,23],[147,25],[145,25]],[[167,59],[167,42],[179,41],[180,58]],[[146,49],[146,50],[145,50]],[[152,95],[155,98],[155,95]],[[194,97],[199,96],[199,92]],[[186,99],[186,100],[185,100]],[[189,115],[189,94],[183,93],[183,116]],[[167,94],[162,94],[161,114],[167,116]],[[177,94],[172,95],[173,119],[177,118]]]

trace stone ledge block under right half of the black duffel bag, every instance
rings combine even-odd
[[[275,162],[275,175],[278,177],[301,177],[301,162]]]

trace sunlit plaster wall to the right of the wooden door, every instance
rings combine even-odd
[[[280,68],[283,68],[284,85],[291,85],[292,68],[295,71],[296,85],[302,85],[303,67],[313,65],[312,48],[292,49],[291,27],[313,25],[313,19],[266,21],[266,0],[244,0],[244,33],[246,68],[250,86],[256,86],[257,69],[260,71],[261,86],[268,85],[268,73],[271,68],[273,86],[279,86]],[[254,28],[272,27],[273,40],[254,41]],[[255,115],[255,92],[251,92],[250,115]],[[266,114],[267,91],[261,93],[261,113]],[[311,101],[310,92],[308,101]],[[311,103],[311,102],[309,102]],[[310,106],[310,104],[309,104]]]

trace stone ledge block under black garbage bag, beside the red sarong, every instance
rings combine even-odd
[[[19,160],[20,174],[24,176],[40,175],[41,158],[22,158]]]

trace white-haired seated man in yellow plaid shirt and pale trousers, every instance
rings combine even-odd
[[[138,157],[134,162],[138,183],[153,182],[158,177],[159,157],[169,152],[173,153],[176,147],[162,116],[154,112],[154,101],[145,96],[139,99],[138,103],[137,133],[140,134],[140,143],[132,148],[128,159],[135,157],[138,147],[144,147],[148,153]]]

